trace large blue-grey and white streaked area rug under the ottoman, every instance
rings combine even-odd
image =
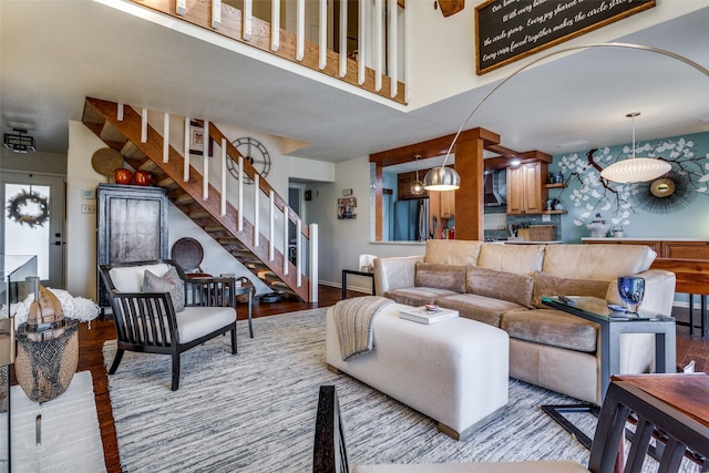
[[[351,464],[568,459],[588,451],[540,407],[574,400],[510,380],[502,417],[467,442],[436,422],[345,374],[327,370],[325,311],[237,322],[228,337],[183,354],[179,390],[169,390],[169,357],[126,352],[109,377],[121,463],[126,472],[304,472],[312,469],[320,384],[335,384]],[[107,364],[115,342],[104,346]],[[574,422],[593,438],[595,420]]]

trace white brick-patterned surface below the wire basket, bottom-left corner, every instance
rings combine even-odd
[[[105,472],[103,443],[96,417],[90,371],[74,374],[71,384],[55,399],[42,404],[31,401],[19,385],[12,387],[13,472]],[[6,428],[7,413],[0,414]],[[41,442],[35,423],[41,415]],[[7,465],[7,435],[0,433],[0,471]]]

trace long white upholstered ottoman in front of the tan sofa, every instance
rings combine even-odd
[[[510,339],[486,323],[454,318],[434,325],[399,318],[384,307],[374,317],[374,350],[342,361],[332,307],[327,312],[327,363],[439,422],[467,440],[507,404]]]

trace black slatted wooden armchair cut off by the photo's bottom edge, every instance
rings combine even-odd
[[[626,381],[615,380],[608,388],[600,411],[590,448],[588,467],[567,460],[552,460],[358,465],[352,471],[358,473],[610,473],[616,471],[619,446],[626,434],[628,419],[630,419],[630,423],[636,425],[636,434],[631,435],[631,445],[625,461],[624,471],[627,473],[640,472],[644,463],[649,459],[648,452],[659,459],[657,470],[659,472],[679,471],[680,462],[686,456],[686,453],[699,459],[709,457],[709,428],[707,428],[706,423],[697,421],[693,415],[686,413],[684,410],[675,409],[672,405]],[[661,442],[650,442],[654,436],[661,439]],[[507,442],[510,439],[502,439],[501,441]],[[320,387],[312,471],[315,473],[343,473],[350,471],[342,420],[333,385]]]

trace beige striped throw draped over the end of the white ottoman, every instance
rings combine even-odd
[[[379,296],[363,296],[335,305],[332,315],[343,361],[374,349],[372,320],[382,308],[392,302],[393,300]]]

